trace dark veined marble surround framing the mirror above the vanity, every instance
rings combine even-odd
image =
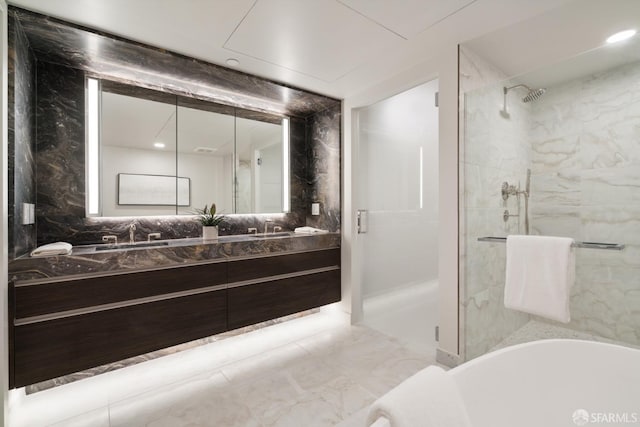
[[[200,225],[188,216],[85,218],[86,75],[290,116],[291,212],[233,215],[220,232],[246,233],[249,227],[262,230],[267,218],[288,230],[309,220],[340,231],[339,100],[18,8],[11,8],[11,22],[25,28],[38,64],[37,244],[58,240],[97,243],[105,234],[127,241],[132,221],[142,236],[161,232],[163,238],[182,238],[201,232]],[[320,217],[309,216],[312,196],[326,200]],[[25,246],[32,249],[33,243]]]

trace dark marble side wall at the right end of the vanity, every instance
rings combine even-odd
[[[309,206],[307,225],[340,231],[341,222],[341,123],[340,105],[308,119],[307,159]],[[320,215],[311,215],[311,203],[320,203]]]

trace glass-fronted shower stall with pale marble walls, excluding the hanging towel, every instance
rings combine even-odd
[[[640,346],[639,43],[515,78],[461,48],[463,359],[543,338]],[[569,323],[504,307],[510,234],[579,242]]]

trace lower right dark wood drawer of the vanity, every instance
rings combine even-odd
[[[229,329],[340,301],[340,269],[232,287]]]

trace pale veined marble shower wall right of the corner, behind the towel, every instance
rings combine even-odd
[[[626,245],[576,251],[563,326],[639,345],[640,62],[549,87],[532,107],[533,233]]]

